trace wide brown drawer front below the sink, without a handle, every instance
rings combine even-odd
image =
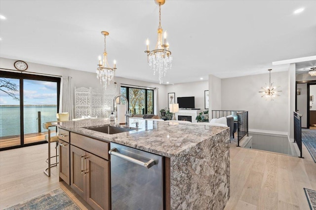
[[[110,143],[71,133],[71,144],[109,160]]]

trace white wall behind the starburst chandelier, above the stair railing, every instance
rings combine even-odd
[[[280,86],[277,90],[282,91],[274,101],[261,98],[262,94],[259,93],[265,83],[269,84],[268,71],[265,74],[222,79],[221,109],[248,111],[249,129],[288,132],[288,72],[272,71],[271,81]]]

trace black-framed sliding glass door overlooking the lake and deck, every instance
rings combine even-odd
[[[60,78],[0,71],[0,150],[46,142],[56,121]]]

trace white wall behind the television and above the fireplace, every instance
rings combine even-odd
[[[175,98],[177,97],[195,97],[195,106],[196,108],[200,108],[204,110],[204,91],[208,90],[208,81],[199,81],[199,82],[187,82],[187,83],[179,83],[173,85],[166,85],[165,95],[162,96],[165,99],[164,104],[161,106],[168,107],[167,98],[168,93],[175,93]],[[177,100],[175,100],[177,103]]]

